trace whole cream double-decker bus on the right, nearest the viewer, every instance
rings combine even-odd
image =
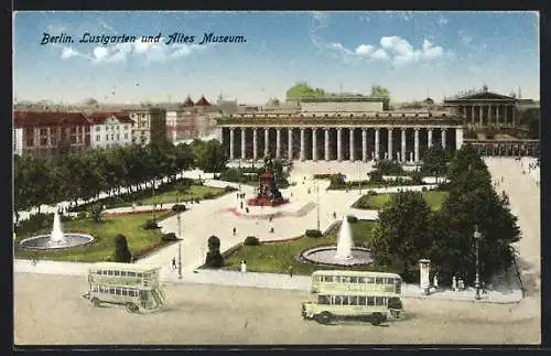
[[[395,273],[323,270],[312,273],[311,293],[302,316],[328,324],[337,319],[358,319],[379,325],[400,319],[401,278]]]

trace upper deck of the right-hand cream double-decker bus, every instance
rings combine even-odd
[[[358,291],[374,293],[401,293],[399,274],[370,271],[318,270],[312,273],[311,292]]]

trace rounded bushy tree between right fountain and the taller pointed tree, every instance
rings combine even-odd
[[[379,213],[379,222],[370,242],[377,265],[389,266],[402,278],[412,281],[418,263],[431,251],[429,222],[431,208],[420,192],[392,195],[389,205]]]

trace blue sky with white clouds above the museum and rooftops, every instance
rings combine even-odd
[[[17,12],[13,94],[22,100],[239,103],[284,98],[296,82],[397,103],[479,89],[539,100],[537,12]],[[71,39],[41,44],[44,33]],[[83,36],[136,42],[80,43]],[[193,43],[168,43],[170,35]],[[203,43],[242,36],[244,43]],[[142,42],[142,36],[159,42]],[[122,40],[123,41],[123,40]]]

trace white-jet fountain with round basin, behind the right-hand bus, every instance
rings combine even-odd
[[[312,248],[302,252],[301,257],[307,262],[327,266],[363,266],[372,261],[369,249],[354,247],[350,224],[346,216],[343,217],[336,246]]]

